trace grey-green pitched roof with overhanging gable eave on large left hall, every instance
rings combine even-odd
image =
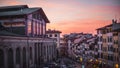
[[[49,23],[47,16],[40,7],[29,8],[27,5],[15,5],[15,6],[2,6],[0,7],[0,17],[16,16],[16,15],[27,15],[35,11],[40,11],[45,22]]]

